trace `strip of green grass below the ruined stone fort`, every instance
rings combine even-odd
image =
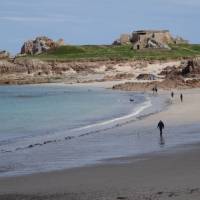
[[[61,46],[49,52],[28,56],[48,61],[167,60],[200,56],[199,44],[171,45],[171,50],[132,50],[131,45]]]

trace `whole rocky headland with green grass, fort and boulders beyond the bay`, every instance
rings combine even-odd
[[[122,34],[110,45],[67,45],[41,36],[10,57],[0,51],[0,84],[124,81],[114,89],[200,86],[200,45],[168,30]]]

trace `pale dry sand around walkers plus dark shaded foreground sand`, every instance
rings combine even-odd
[[[167,127],[176,131],[198,124],[200,90],[174,92],[167,110],[120,127],[121,131],[134,126],[156,126],[160,119],[166,123],[166,132]],[[198,130],[200,127],[195,131]],[[194,141],[151,154],[108,160],[101,165],[1,178],[0,199],[199,199],[199,152],[199,144]]]

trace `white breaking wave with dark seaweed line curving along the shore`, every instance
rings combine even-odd
[[[146,97],[146,101],[139,104],[130,114],[117,117],[114,119],[109,119],[107,121],[83,126],[80,128],[72,129],[67,132],[56,132],[51,135],[40,135],[40,136],[33,136],[31,138],[24,138],[20,142],[16,142],[15,144],[7,144],[0,149],[0,153],[11,153],[15,151],[30,149],[34,147],[40,147],[47,144],[58,143],[61,141],[68,141],[71,139],[75,139],[78,137],[83,137],[86,135],[99,133],[101,131],[109,130],[123,124],[127,124],[130,121],[137,119],[136,117],[139,116],[144,110],[148,109],[152,106],[151,99]]]

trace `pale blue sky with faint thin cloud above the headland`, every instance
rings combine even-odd
[[[200,43],[199,0],[0,0],[0,49],[20,52],[36,36],[111,44],[122,33],[169,29]]]

